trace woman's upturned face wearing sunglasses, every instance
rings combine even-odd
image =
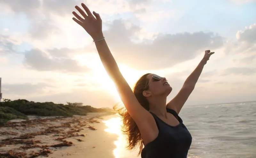
[[[156,74],[149,74],[147,79],[149,81],[148,91],[152,96],[165,95],[167,97],[171,93],[172,87],[165,77],[160,77]]]

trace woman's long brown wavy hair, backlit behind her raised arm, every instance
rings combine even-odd
[[[149,74],[145,74],[141,76],[140,79],[135,83],[135,86],[133,88],[134,95],[136,96],[140,105],[144,107],[146,110],[149,110],[149,103],[146,97],[143,96],[142,92],[148,89],[148,75]],[[128,136],[128,146],[126,148],[128,150],[134,150],[136,149],[137,146],[139,146],[139,155],[143,148],[143,141],[137,124],[134,122],[134,120],[132,119],[128,111],[125,109],[125,107],[118,107],[116,104],[113,108],[121,116],[123,121],[122,131],[125,135]]]

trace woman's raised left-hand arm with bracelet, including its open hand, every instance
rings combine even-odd
[[[116,84],[119,96],[121,97],[125,108],[137,124],[140,124],[140,122],[148,119],[148,117],[151,119],[152,116],[150,113],[142,106],[140,106],[140,103],[136,99],[128,83],[125,81],[113,55],[108,48],[102,33],[102,20],[100,15],[96,12],[93,12],[93,15],[95,16],[94,17],[85,4],[82,4],[82,7],[87,14],[80,7],[75,6],[77,11],[80,12],[84,18],[80,17],[76,12],[73,12],[74,16],[76,17],[73,18],[73,20],[82,26],[90,36],[92,36],[99,53],[100,60],[108,75],[110,75]],[[146,122],[144,123],[147,124]]]

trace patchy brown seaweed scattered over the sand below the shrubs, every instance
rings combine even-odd
[[[19,133],[14,131],[3,131],[0,132],[0,135],[12,135],[12,138],[6,138],[0,140],[0,147],[12,145],[15,147],[12,150],[6,151],[6,153],[0,153],[1,158],[36,158],[38,156],[49,156],[52,153],[50,147],[58,148],[63,146],[72,146],[73,142],[65,140],[66,138],[73,137],[85,137],[84,134],[81,134],[84,128],[89,128],[90,130],[97,130],[92,126],[87,126],[88,123],[100,123],[95,120],[95,117],[82,121],[81,117],[72,117],[66,119],[64,117],[58,118],[36,118],[31,120],[24,121],[9,121],[6,125],[2,127],[8,127],[10,130],[28,130],[29,128],[36,128],[39,125],[42,126],[42,130],[25,133],[19,135]],[[99,118],[101,119],[101,118]],[[16,120],[15,120],[16,121]],[[58,122],[58,125],[53,125],[49,122]],[[86,127],[87,126],[87,127]],[[35,140],[36,136],[44,135],[53,137],[53,140],[59,141],[58,143],[53,144],[43,144],[40,140]],[[82,139],[76,138],[77,141],[81,142]],[[20,146],[21,145],[21,146]],[[35,150],[28,150],[34,148]],[[39,148],[39,149],[37,149]],[[95,147],[93,147],[95,148]],[[26,151],[27,150],[27,151]]]

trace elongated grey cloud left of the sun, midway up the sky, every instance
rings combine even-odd
[[[54,50],[53,50],[54,51]],[[51,57],[45,52],[32,49],[25,52],[24,65],[37,71],[86,72],[87,67],[81,67],[76,60],[68,57]]]

